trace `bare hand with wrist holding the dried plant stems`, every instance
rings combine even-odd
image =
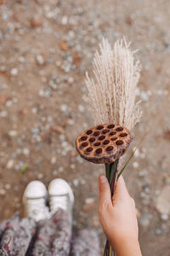
[[[122,176],[116,183],[112,199],[107,178],[99,177],[99,220],[117,256],[141,255],[135,203]]]

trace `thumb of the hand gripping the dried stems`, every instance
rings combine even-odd
[[[99,208],[102,209],[111,203],[111,189],[105,175],[99,176]]]

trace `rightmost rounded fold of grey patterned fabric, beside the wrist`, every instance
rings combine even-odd
[[[77,232],[71,242],[71,256],[99,256],[99,239],[94,230]]]

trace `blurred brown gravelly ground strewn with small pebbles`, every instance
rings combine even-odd
[[[26,184],[65,178],[74,190],[74,229],[94,228],[98,176],[75,138],[93,125],[84,73],[101,38],[124,35],[142,65],[141,122],[124,177],[136,201],[144,256],[170,255],[170,2],[0,0],[0,220],[20,211]],[[21,211],[20,211],[21,212]]]

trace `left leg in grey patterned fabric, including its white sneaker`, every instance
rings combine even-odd
[[[26,217],[20,219],[17,214],[0,226],[0,255],[23,256],[36,233],[36,220],[48,218],[45,205],[47,191],[39,181],[31,182],[25,190],[23,203]]]

